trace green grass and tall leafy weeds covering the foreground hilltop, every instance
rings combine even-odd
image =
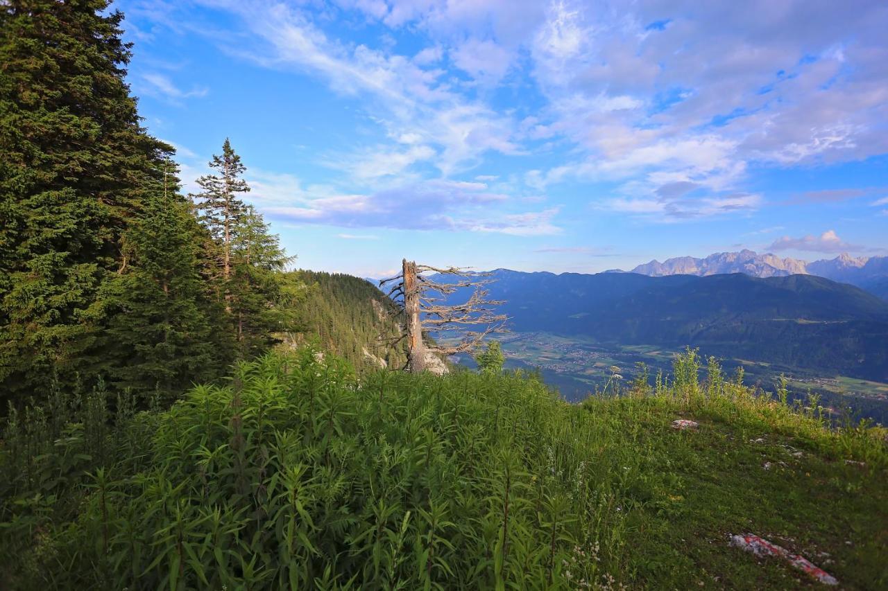
[[[12,414],[0,584],[810,584],[729,548],[737,532],[845,588],[888,584],[884,429],[829,429],[816,407],[754,396],[711,363],[698,382],[694,351],[673,379],[580,406],[521,374],[357,379],[319,359],[242,362],[168,411],[118,398],[112,416],[95,390]],[[670,429],[678,417],[700,428]]]

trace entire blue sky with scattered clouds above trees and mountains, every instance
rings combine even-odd
[[[297,266],[888,254],[888,3],[125,0],[186,190],[226,137]]]

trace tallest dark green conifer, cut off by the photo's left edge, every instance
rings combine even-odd
[[[104,371],[97,295],[163,183],[106,0],[0,4],[0,390]]]

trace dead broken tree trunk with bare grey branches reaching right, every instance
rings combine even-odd
[[[434,281],[424,276],[424,272],[436,272],[456,278],[453,282]],[[472,351],[484,337],[491,333],[504,332],[506,316],[496,314],[494,308],[502,301],[488,299],[485,287],[492,281],[486,279],[490,273],[468,272],[461,267],[438,269],[427,264],[416,264],[403,260],[400,274],[379,281],[379,287],[392,284],[388,296],[404,311],[404,330],[399,338],[390,344],[406,339],[408,369],[414,374],[425,371],[426,352],[443,355]],[[472,296],[464,303],[447,304],[447,296],[462,288],[474,288]],[[484,325],[481,330],[471,327]],[[434,333],[439,338],[460,335],[456,345],[430,345],[424,335]]]

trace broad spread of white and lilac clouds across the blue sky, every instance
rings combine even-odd
[[[237,55],[315,76],[356,98],[381,130],[320,154],[322,164],[345,173],[336,187],[292,179],[300,197],[274,198],[297,219],[385,226],[397,195],[428,208],[418,222],[392,218],[411,227],[434,221],[465,229],[478,214],[477,231],[555,232],[551,209],[510,208],[551,185],[590,182],[615,186],[595,207],[646,220],[745,215],[764,202],[744,190],[752,167],[888,153],[888,11],[878,2],[854,10],[767,0],[199,2],[233,12],[249,29]],[[360,20],[383,34],[350,41],[353,28],[341,25]],[[410,43],[392,43],[400,32]],[[169,98],[188,94],[163,76],[145,82]],[[503,98],[509,92],[518,98]],[[502,155],[533,157],[509,161],[508,182],[481,175],[493,188],[457,191],[502,195],[488,211],[469,216],[465,208],[477,204],[449,194],[453,185],[433,184],[496,165]],[[257,180],[255,193],[287,185]],[[844,194],[813,192],[809,201]],[[440,206],[428,206],[432,195]],[[500,223],[488,219],[493,204]]]

